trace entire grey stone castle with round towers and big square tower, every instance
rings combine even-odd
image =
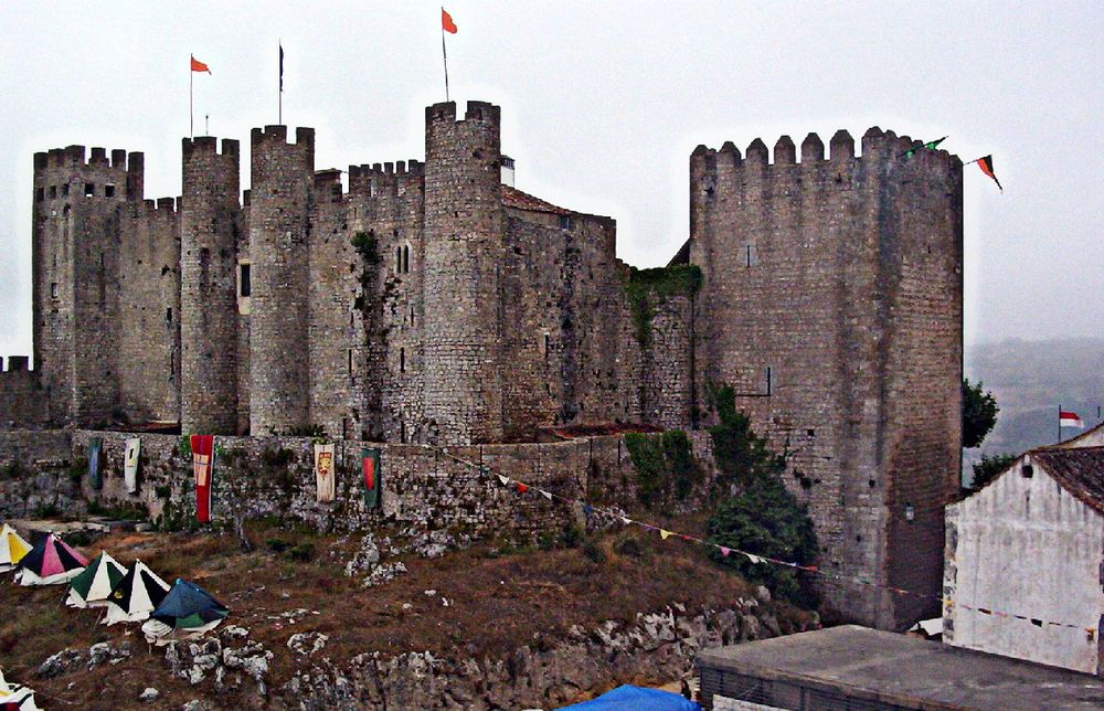
[[[613,220],[512,187],[499,107],[425,114],[425,160],[316,170],[314,131],[184,139],[182,195],[144,156],[34,156],[34,370],[0,428],[179,423],[386,443],[532,442],[710,424],[728,383],[808,502],[821,566],[936,593],[957,492],[962,162],[871,128],[829,150],[755,139],[690,157],[666,268]],[[789,476],[792,475],[792,476]],[[878,624],[920,614],[872,593]],[[861,616],[861,615],[860,615]],[[881,622],[879,622],[881,620]]]

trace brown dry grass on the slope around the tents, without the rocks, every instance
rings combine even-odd
[[[670,523],[692,530],[694,522]],[[290,560],[286,552],[265,548],[273,538],[314,543],[317,555],[306,562]],[[549,648],[573,625],[630,622],[638,612],[662,609],[673,602],[694,613],[749,596],[746,583],[709,563],[697,546],[660,542],[637,529],[598,537],[585,550],[499,554],[493,548],[477,546],[436,560],[407,556],[403,559],[407,574],[367,590],[342,570],[359,537],[320,538],[263,528],[255,529],[252,539],[256,549],[243,553],[230,537],[115,534],[85,552],[95,554],[103,548],[125,564],[140,558],[169,583],[189,577],[203,585],[231,608],[225,624],[247,627],[250,639],[276,655],[270,688],[286,681],[298,666],[286,644],[299,632],[328,635],[323,654],[339,665],[363,651],[429,650],[436,656],[495,658],[523,644]],[[427,590],[436,592],[427,596]],[[98,613],[64,607],[65,594],[63,586],[34,590],[0,584],[7,611],[0,619],[4,672],[41,690],[44,701],[126,708],[136,705],[141,690],[152,686],[166,704],[209,694],[222,707],[252,702],[246,697],[215,696],[210,680],[190,687],[170,678],[161,652],[147,650],[137,625],[97,626]],[[807,620],[804,613],[776,607],[784,627]],[[308,613],[294,624],[280,618],[296,608],[318,614]],[[33,676],[38,665],[60,649],[86,651],[96,641],[117,644],[124,638],[131,640],[136,654],[123,664],[51,680]]]

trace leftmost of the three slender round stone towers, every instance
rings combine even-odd
[[[183,139],[180,427],[237,434],[238,141]]]

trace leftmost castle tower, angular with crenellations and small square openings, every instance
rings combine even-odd
[[[142,194],[142,155],[84,146],[34,155],[34,367],[55,424],[107,422],[118,407],[118,226]]]

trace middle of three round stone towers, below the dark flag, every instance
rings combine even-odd
[[[307,236],[315,129],[253,129],[250,189],[250,433],[308,425]]]

